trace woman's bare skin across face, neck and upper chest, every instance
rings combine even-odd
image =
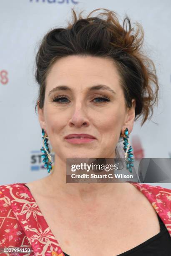
[[[71,92],[60,90],[49,96],[61,84]],[[106,84],[116,93],[90,92],[97,84]],[[53,102],[59,94],[67,100]],[[110,101],[96,99],[100,96]],[[46,79],[44,107],[38,105],[38,114],[55,152],[54,169],[26,185],[65,253],[118,255],[160,231],[156,211],[132,184],[66,183],[66,158],[114,158],[120,133],[126,127],[129,134],[133,129],[135,100],[128,109],[111,59],[67,56],[56,61]],[[70,133],[88,133],[96,140],[70,144],[64,139]],[[138,236],[137,230],[141,230]]]

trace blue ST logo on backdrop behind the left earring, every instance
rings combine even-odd
[[[40,150],[33,150],[30,152],[30,170],[31,171],[41,171],[42,169],[47,170],[44,167],[43,159],[42,159],[42,152]],[[52,161],[54,163],[55,160],[55,154],[53,150],[50,150],[50,156],[52,157]]]

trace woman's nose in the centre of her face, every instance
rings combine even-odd
[[[86,114],[86,110],[83,109],[81,104],[75,105],[72,113],[72,117],[69,120],[70,127],[80,128],[81,126],[87,127],[89,125],[89,120]]]

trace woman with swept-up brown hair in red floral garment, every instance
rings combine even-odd
[[[50,175],[0,186],[0,246],[25,250],[18,255],[171,254],[171,189],[66,183],[67,158],[115,158],[119,139],[141,115],[145,123],[158,98],[154,64],[141,51],[142,27],[134,33],[128,17],[122,27],[116,13],[103,10],[106,18],[91,18],[93,11],[79,19],[73,10],[73,23],[49,31],[36,56],[41,150]]]

